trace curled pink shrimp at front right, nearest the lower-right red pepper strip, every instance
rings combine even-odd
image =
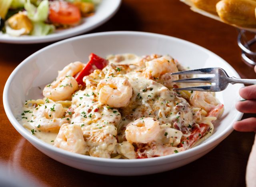
[[[125,135],[129,142],[148,143],[157,140],[159,132],[159,121],[152,117],[142,117],[127,125]]]

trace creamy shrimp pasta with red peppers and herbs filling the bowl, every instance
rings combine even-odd
[[[22,120],[32,135],[74,153],[116,159],[180,153],[208,138],[223,112],[211,92],[173,90],[181,87],[173,80],[192,75],[171,73],[187,69],[168,55],[91,54],[87,64],[58,71],[43,99],[26,101]]]

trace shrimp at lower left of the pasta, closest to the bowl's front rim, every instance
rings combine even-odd
[[[54,147],[59,147],[73,153],[85,154],[86,142],[80,125],[63,124],[54,141]]]

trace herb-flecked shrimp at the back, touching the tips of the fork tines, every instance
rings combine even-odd
[[[179,76],[172,76],[171,73],[178,72],[178,68],[173,58],[170,56],[163,56],[154,60],[146,62],[145,78],[156,80],[164,84],[167,88],[172,88],[172,81],[178,80]]]

